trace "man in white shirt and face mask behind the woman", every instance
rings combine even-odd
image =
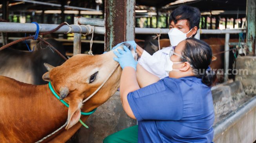
[[[158,50],[153,55],[150,55],[148,52],[143,50],[134,41],[127,42],[131,44],[134,49],[136,49],[136,52],[140,56],[138,63],[145,70],[162,79],[168,76],[168,73],[164,70],[165,58],[169,55],[171,49],[175,48],[180,41],[193,37],[196,34],[200,23],[200,18],[201,13],[196,7],[183,5],[172,11],[169,18],[170,31],[168,32],[171,46]],[[113,49],[115,49],[117,46],[113,47]]]

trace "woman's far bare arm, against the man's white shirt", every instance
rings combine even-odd
[[[140,64],[137,64],[136,77],[140,88],[158,82],[159,77],[145,70]]]

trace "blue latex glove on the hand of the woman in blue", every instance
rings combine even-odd
[[[123,49],[124,50],[117,49],[119,53],[114,51],[114,54],[117,57],[114,57],[113,59],[120,64],[122,69],[127,66],[131,66],[136,70],[136,66],[138,62],[134,60],[133,54],[126,46],[123,46]]]

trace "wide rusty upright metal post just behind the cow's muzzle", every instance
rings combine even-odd
[[[105,50],[110,50],[114,45],[127,41],[129,29],[132,33],[134,27],[129,26],[133,25],[133,22],[129,20],[129,13],[132,15],[135,13],[133,5],[135,5],[135,0],[131,2],[129,0],[105,0]]]

